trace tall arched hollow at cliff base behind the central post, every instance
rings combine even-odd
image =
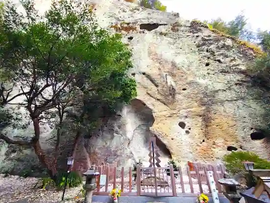
[[[130,141],[129,147],[131,148],[135,158],[144,157],[144,160],[148,162],[149,157],[149,141],[153,136],[150,131],[150,127],[153,125],[155,118],[152,110],[141,100],[133,99],[131,101],[131,111],[135,115],[134,120],[131,120],[135,124],[135,130]],[[154,135],[155,136],[155,135]],[[166,145],[157,137],[156,145],[158,146],[161,154],[161,161],[171,159],[171,154]],[[161,163],[165,164],[165,163]]]

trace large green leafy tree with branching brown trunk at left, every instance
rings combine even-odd
[[[2,80],[0,96],[2,107],[9,104],[26,109],[34,133],[30,141],[12,140],[3,132],[0,139],[32,147],[54,178],[57,153],[50,157],[41,148],[40,125],[56,125],[57,152],[61,125],[71,107],[129,102],[136,96],[135,81],[126,73],[132,68],[131,52],[121,35],[110,35],[98,27],[88,4],[54,1],[44,16],[38,15],[33,1],[23,0],[22,5],[26,17],[14,4],[5,5],[0,66],[10,74]]]

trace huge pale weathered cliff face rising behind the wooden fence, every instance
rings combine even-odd
[[[37,1],[37,8],[44,12],[48,2]],[[99,24],[121,32],[133,50],[130,74],[138,91],[130,105],[95,132],[102,136],[81,139],[90,159],[123,166],[148,161],[151,134],[162,141],[163,163],[170,156],[167,149],[182,164],[218,160],[232,147],[268,157],[267,141],[250,137],[265,109],[260,99],[250,96],[260,92],[245,75],[247,62],[254,58],[250,50],[173,13],[120,0],[90,2]],[[80,155],[85,153],[81,148],[79,168],[87,159]]]

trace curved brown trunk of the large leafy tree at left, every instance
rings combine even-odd
[[[35,137],[33,138],[33,148],[35,150],[35,154],[37,155],[39,161],[41,164],[43,164],[47,170],[51,178],[54,179],[55,174],[57,172],[56,170],[56,160],[52,157],[46,156],[45,152],[42,150],[41,145],[39,143],[39,137],[40,137],[40,126],[38,119],[32,119],[33,125],[34,125],[34,131],[35,131]]]

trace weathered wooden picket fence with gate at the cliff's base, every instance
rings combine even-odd
[[[119,186],[122,196],[194,197],[198,196],[199,193],[209,195],[211,188],[206,174],[207,171],[213,171],[218,195],[223,196],[221,186],[217,182],[225,172],[223,164],[192,164],[189,163],[183,169],[179,167],[178,171],[174,171],[172,165],[170,167],[156,167],[155,170],[153,167],[137,166],[136,171],[132,171],[132,167],[130,167],[128,173],[125,173],[124,167],[117,171],[116,164],[98,166],[96,170],[103,177],[106,175],[106,181],[102,185],[101,176],[98,176],[97,189],[93,194],[107,196],[113,188]]]

